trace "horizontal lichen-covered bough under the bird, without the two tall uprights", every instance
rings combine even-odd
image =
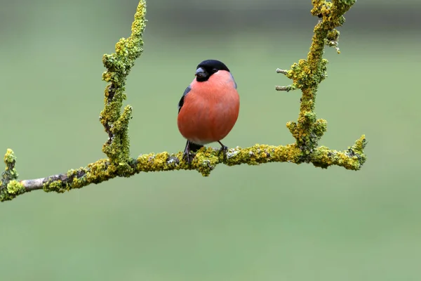
[[[312,154],[314,166],[327,168],[331,165],[343,166],[349,170],[361,168],[362,150],[366,143],[361,136],[355,145],[345,151],[329,150],[328,148],[316,148]],[[9,152],[6,165],[15,165],[13,152]],[[191,165],[182,160],[182,152],[169,154],[168,152],[150,153],[130,159],[130,173],[123,174],[109,159],[100,159],[97,162],[76,170],[69,170],[65,174],[37,178],[34,180],[8,181],[4,188],[0,189],[0,201],[13,199],[16,195],[32,190],[43,189],[46,192],[65,192],[75,188],[82,188],[91,183],[102,183],[117,176],[133,176],[140,172],[148,171],[173,171],[173,170],[196,170],[203,176],[209,176],[210,172],[218,164],[235,166],[240,164],[258,165],[269,162],[302,163],[301,150],[297,145],[254,145],[250,148],[230,148],[225,158],[220,150],[214,148],[201,149],[194,157]],[[13,170],[13,169],[12,169]],[[13,171],[15,173],[15,171]]]

